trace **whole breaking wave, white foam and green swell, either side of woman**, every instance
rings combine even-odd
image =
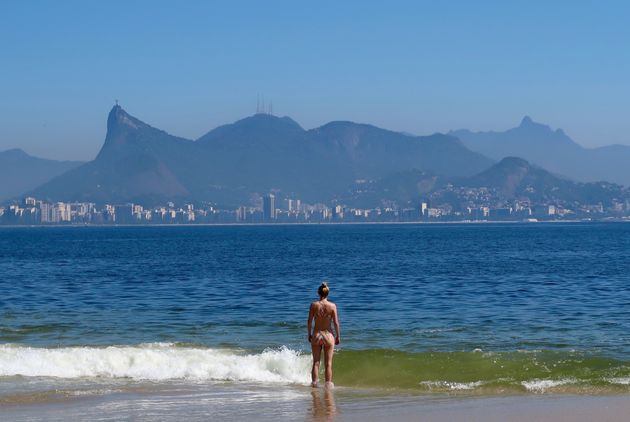
[[[0,345],[0,377],[233,381],[308,385],[311,356],[188,344],[38,348]],[[341,350],[335,384],[455,394],[630,392],[630,362],[578,352]]]

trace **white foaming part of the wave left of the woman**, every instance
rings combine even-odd
[[[0,345],[0,376],[307,384],[309,366],[309,356],[286,347],[244,354],[168,343],[51,349]]]

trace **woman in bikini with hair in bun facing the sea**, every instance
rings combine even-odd
[[[311,303],[308,312],[308,341],[311,343],[313,350],[313,369],[311,378],[313,387],[317,387],[319,380],[319,362],[321,359],[322,349],[324,349],[324,365],[326,375],[326,387],[333,387],[332,383],[332,357],[335,350],[335,344],[341,342],[341,334],[339,331],[339,318],[337,318],[337,306],[328,301],[328,293],[330,289],[328,284],[323,282],[317,293],[319,300]],[[311,331],[313,320],[315,327]],[[335,325],[335,333],[333,335],[332,326]]]

